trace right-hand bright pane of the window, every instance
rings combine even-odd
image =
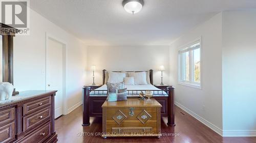
[[[200,48],[193,50],[194,81],[200,82]]]

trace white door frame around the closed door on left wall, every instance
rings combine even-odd
[[[61,39],[59,39],[57,36],[54,36],[48,32],[46,32],[46,51],[45,51],[45,54],[46,54],[46,65],[45,65],[45,69],[46,69],[46,72],[45,72],[45,89],[47,88],[47,49],[49,48],[48,47],[48,40],[53,40],[55,42],[58,42],[60,44],[63,45],[63,52],[62,52],[62,73],[63,73],[63,77],[62,77],[62,80],[63,80],[63,83],[62,83],[62,90],[63,90],[63,95],[62,95],[62,108],[63,108],[63,112],[62,114],[63,115],[67,115],[68,113],[68,102],[67,102],[67,84],[66,84],[66,58],[67,58],[67,42],[66,41],[63,41]]]

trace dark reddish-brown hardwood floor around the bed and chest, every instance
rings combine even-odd
[[[191,117],[175,106],[176,126],[167,126],[167,118],[162,118],[162,133],[173,133],[173,136],[156,137],[108,137],[103,139],[98,135],[102,131],[102,118],[91,118],[91,125],[82,127],[82,108],[79,106],[66,116],[55,120],[55,130],[58,142],[232,142],[256,143],[256,137],[222,137],[210,128]],[[88,134],[83,134],[87,132]],[[176,136],[175,134],[176,133]]]

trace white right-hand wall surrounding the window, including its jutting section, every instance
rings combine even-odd
[[[255,25],[256,10],[225,11],[170,46],[176,105],[223,136],[256,135]],[[200,36],[202,90],[178,84],[178,49]]]

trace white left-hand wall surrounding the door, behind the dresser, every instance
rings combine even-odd
[[[17,91],[46,89],[46,32],[67,43],[68,111],[81,103],[87,66],[86,46],[76,37],[31,10],[30,35],[14,38],[14,87]]]

